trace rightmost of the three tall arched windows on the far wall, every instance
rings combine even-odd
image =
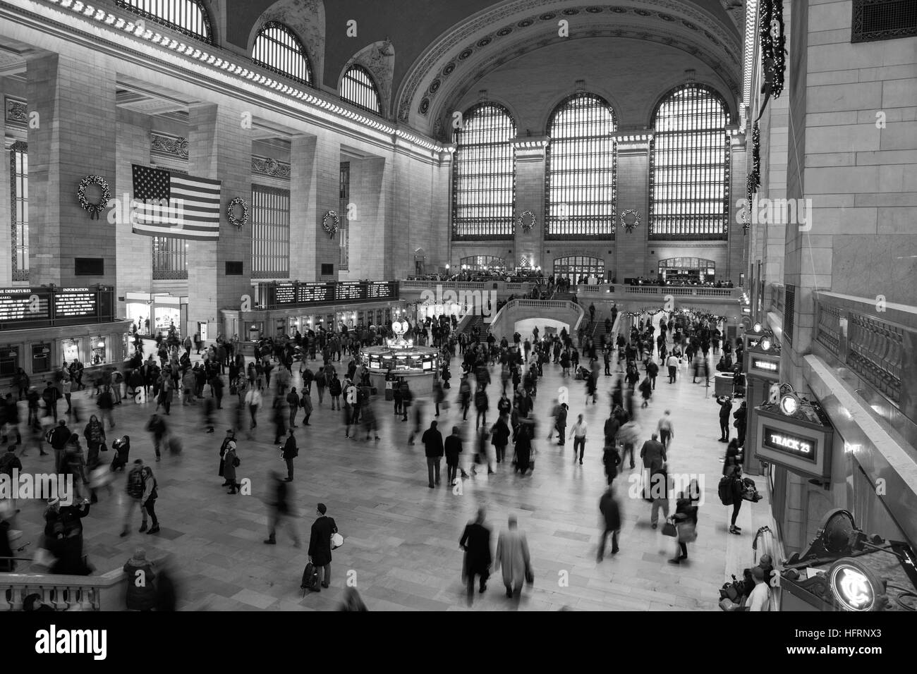
[[[729,227],[729,113],[685,84],[657,105],[649,164],[649,238],[724,239]]]

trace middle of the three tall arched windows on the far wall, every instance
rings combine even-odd
[[[545,238],[614,235],[615,130],[612,106],[595,94],[574,94],[547,125]]]

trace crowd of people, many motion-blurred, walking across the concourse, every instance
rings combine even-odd
[[[563,287],[563,279],[559,281],[559,287]],[[553,278],[548,279],[548,283],[555,282]],[[594,320],[594,306],[591,310],[591,319]],[[565,447],[568,441],[572,441],[572,460],[577,465],[583,465],[588,452],[589,424],[583,414],[571,411],[571,407],[585,410],[590,404],[598,404],[599,381],[603,377],[611,377],[608,417],[601,431],[602,466],[608,489],[599,503],[604,532],[597,558],[602,560],[605,540],[609,535],[612,537],[612,554],[623,545],[619,536],[621,504],[613,482],[625,470],[635,470],[639,460],[644,498],[650,503],[650,525],[655,529],[661,522],[673,528],[677,546],[671,562],[683,563],[688,558],[688,545],[696,536],[700,494],[697,485],[691,484],[677,494],[674,509],[669,514],[671,482],[668,478],[667,451],[675,436],[675,428],[668,411],[656,424],[646,427],[641,410],[645,410],[652,400],[657,375],[662,367],[668,370],[669,384],[677,381],[686,366],[687,372],[693,375],[692,381],[709,382],[711,351],[714,355],[719,354],[721,344],[722,355],[717,370],[730,370],[740,375],[741,342],[734,349],[723,339],[719,326],[709,317],[691,320],[686,315],[662,315],[661,318],[646,315],[641,320],[635,320],[629,330],[620,326],[613,330],[616,323],[617,309],[613,307],[613,315],[606,317],[603,331],[600,327],[593,335],[580,333],[576,341],[566,329],[561,329],[559,334],[545,334],[537,327],[529,336],[515,333],[512,337],[500,339],[478,328],[457,333],[455,319],[446,316],[426,318],[409,326],[409,334],[405,337],[413,337],[416,343],[433,344],[441,349],[443,355],[433,384],[432,409],[427,408],[422,397],[414,395],[408,381],[399,378],[397,372],[389,372],[387,376],[392,381],[392,413],[396,419],[400,417],[402,422],[409,423],[406,427],[408,445],[413,445],[416,438],[424,447],[427,487],[436,489],[443,484],[440,470],[444,458],[448,489],[460,489],[462,481],[473,480],[485,470],[487,474],[493,474],[503,470],[503,466],[505,470],[512,468],[519,479],[530,476],[535,470],[538,453],[536,438],[539,432],[544,432],[539,431],[534,401],[539,392],[539,380],[552,364],[558,367],[561,379],[581,381],[585,395],[581,404],[579,400],[574,400],[575,395],[554,399],[547,422],[547,439],[550,441],[556,436],[558,447]],[[55,384],[60,384],[61,389],[65,388],[65,383],[68,384],[67,391],[87,388],[81,381],[82,368],[74,362],[61,368],[48,382],[46,393],[39,398],[45,403],[43,414],[40,414],[38,403],[33,405],[35,387],[28,385],[27,381],[29,414],[26,426],[38,428],[39,432],[33,433],[26,442],[19,432],[17,400],[12,393],[8,394],[2,408],[2,439],[10,442],[6,454],[13,459],[0,460],[0,470],[21,470],[20,457],[28,456],[27,448],[34,444],[39,453],[44,454],[47,443],[54,452],[57,470],[72,474],[74,483],[78,485],[77,498],[71,505],[48,503],[42,548],[47,553],[50,571],[91,572],[92,565],[83,556],[83,520],[91,504],[98,503],[100,497],[107,499],[112,495],[119,472],[124,474],[124,491],[127,494],[121,536],[130,535],[138,507],[141,513],[139,532],[147,535],[160,532],[156,512],[159,490],[154,471],[142,459],[130,459],[129,436],[109,439],[115,435],[113,410],[124,400],[146,403],[153,408],[145,428],[149,432],[156,461],[182,451],[181,438],[171,434],[166,418],[171,414],[171,403],[181,400],[182,407],[199,406],[204,433],[215,431],[218,411],[226,404],[231,422],[219,447],[217,476],[223,480],[221,486],[226,488],[227,494],[241,492],[237,469],[245,459],[245,442],[254,439],[258,433],[262,409],[270,409],[273,443],[281,446],[286,475],[282,476],[279,472],[272,475],[271,495],[266,499],[270,525],[264,543],[277,545],[278,529],[288,528],[294,545],[298,547],[300,539],[290,485],[294,478],[293,464],[299,454],[295,429],[310,425],[314,410],[328,409],[325,406],[327,396],[330,410],[341,411],[345,439],[379,440],[379,417],[385,413],[380,409],[381,396],[373,390],[369,371],[360,353],[362,348],[380,344],[390,334],[384,326],[358,329],[340,326],[335,332],[321,329],[309,330],[305,334],[296,332],[289,337],[260,340],[253,345],[250,357],[241,353],[238,340],[222,337],[209,346],[187,337],[178,344],[168,337],[160,338],[156,353],[146,358],[140,343],[125,363],[124,370],[106,369],[99,373],[90,393],[90,397],[96,399],[99,411],[90,415],[82,426],[82,433],[79,405],[71,403],[67,396],[67,410],[60,413],[57,404],[61,396],[54,394],[58,389]],[[196,349],[194,359],[191,358],[193,349]],[[200,358],[197,358],[198,355]],[[450,366],[456,358],[460,370],[455,382],[458,411],[452,414],[453,424],[440,427],[438,417],[450,407],[448,398],[451,396],[447,393],[453,388]],[[14,388],[20,386],[21,380]],[[492,410],[489,388],[492,391],[499,389],[499,394],[493,393],[493,398],[497,400],[495,410]],[[717,402],[720,407],[720,439],[728,445],[724,474],[740,475],[745,403],[734,414],[732,397],[717,399]],[[326,414],[324,410],[323,416]],[[469,413],[475,418],[473,434],[463,430],[466,423],[470,428]],[[461,414],[460,421],[458,414]],[[66,419],[62,418],[64,416]],[[729,437],[728,422],[732,418],[735,418],[735,427],[739,430],[735,438]],[[9,439],[12,436],[16,436],[15,442]],[[106,465],[103,456],[109,442],[114,451],[111,463]],[[737,535],[741,534],[735,525],[741,502],[739,495],[730,528],[731,533]],[[326,513],[325,506],[320,505],[318,515],[321,519]],[[525,534],[511,518],[499,536],[495,555],[492,555],[490,531],[485,518],[486,514],[481,511],[466,527],[459,543],[466,554],[464,578],[469,601],[476,581],[479,591],[486,590],[493,565],[495,571],[503,569],[507,597],[518,602],[522,588],[533,577]],[[321,535],[324,536],[324,532]],[[310,543],[308,556],[315,568],[321,571],[322,581],[316,589],[327,587],[330,549],[326,550],[324,543],[318,547]],[[129,563],[137,566],[143,561],[142,555],[135,554]],[[359,597],[350,597],[349,601],[359,605]],[[141,604],[155,605],[155,602],[148,598],[138,605]]]

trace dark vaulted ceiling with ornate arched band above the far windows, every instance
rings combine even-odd
[[[243,50],[265,12],[282,7],[290,23],[305,22],[310,34],[300,38],[328,90],[337,89],[338,74],[355,54],[390,40],[397,58],[387,104],[393,117],[426,133],[443,102],[476,76],[564,39],[558,36],[561,19],[569,21],[569,39],[646,39],[683,50],[715,67],[737,91],[744,1],[208,0],[225,4],[226,41]],[[310,17],[322,14],[324,38],[316,39],[318,22]],[[356,22],[356,37],[348,37],[350,21]]]

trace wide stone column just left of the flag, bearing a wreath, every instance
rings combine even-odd
[[[115,196],[115,72],[50,54],[28,61],[29,283],[114,285],[116,228],[108,209],[91,220],[76,193],[87,175],[99,175]],[[6,183],[7,185],[9,183]],[[97,188],[87,190],[97,200]],[[76,276],[75,258],[102,259],[105,273]]]

